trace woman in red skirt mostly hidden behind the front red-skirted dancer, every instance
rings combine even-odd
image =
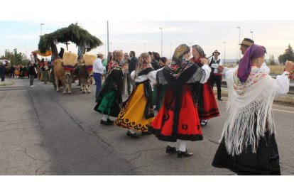
[[[205,57],[205,53],[200,45],[192,45],[192,62],[198,66],[202,66],[200,59]],[[198,97],[198,114],[200,125],[207,125],[207,120],[219,116],[219,107],[214,97],[214,92],[209,82],[204,84],[197,82],[197,97]]]

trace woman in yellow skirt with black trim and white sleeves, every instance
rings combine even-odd
[[[135,87],[114,121],[117,126],[129,129],[126,135],[132,138],[138,138],[135,131],[141,131],[142,135],[148,134],[148,126],[154,117],[152,83],[156,82],[156,71],[150,62],[148,53],[142,53],[138,58],[136,70],[131,72]]]

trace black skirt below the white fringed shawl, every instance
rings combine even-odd
[[[260,139],[256,153],[252,153],[252,146],[249,145],[238,156],[227,153],[224,138],[222,138],[212,166],[227,168],[237,175],[281,175],[275,135],[270,135],[267,131]]]

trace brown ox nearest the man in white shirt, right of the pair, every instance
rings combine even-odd
[[[93,70],[89,69],[89,67],[85,65],[84,60],[79,60],[77,66],[79,67],[80,90],[82,93],[87,92],[87,94],[89,94],[91,93],[89,85],[92,82]]]

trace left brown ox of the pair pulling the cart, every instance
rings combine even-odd
[[[60,81],[63,88],[63,94],[72,93],[72,81],[73,81],[73,71],[67,71],[63,67],[63,62],[60,58],[54,61],[54,75],[55,75],[55,84],[58,84]],[[60,92],[59,86],[56,85],[56,91]]]

